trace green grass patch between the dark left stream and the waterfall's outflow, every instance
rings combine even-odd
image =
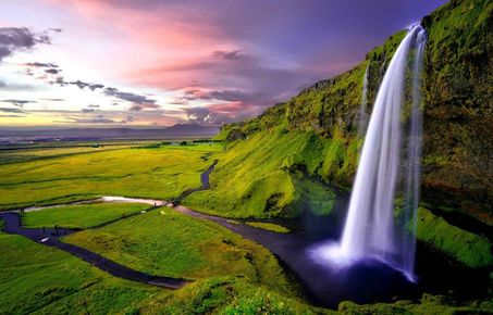
[[[208,220],[162,209],[63,238],[140,272],[188,279],[243,276],[289,290],[264,248]]]

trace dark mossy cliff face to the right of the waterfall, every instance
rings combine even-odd
[[[493,2],[427,16],[423,194],[493,214]],[[490,220],[491,223],[491,220]]]

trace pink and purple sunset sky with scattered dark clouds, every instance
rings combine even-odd
[[[445,2],[2,0],[0,126],[246,119]]]

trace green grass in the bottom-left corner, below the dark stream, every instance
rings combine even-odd
[[[164,292],[20,236],[0,232],[0,314],[116,313]]]

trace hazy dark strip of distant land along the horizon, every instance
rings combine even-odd
[[[177,124],[159,128],[0,128],[0,141],[50,140],[50,139],[165,139],[165,138],[210,138],[219,133],[219,127],[193,124]]]

